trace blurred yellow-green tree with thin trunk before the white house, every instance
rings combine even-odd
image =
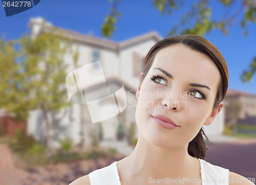
[[[44,115],[48,155],[52,154],[48,114],[70,105],[65,86],[67,63],[64,62],[69,46],[68,40],[60,35],[52,30],[34,38],[24,36],[20,40],[22,64],[26,73],[22,87],[31,102],[29,110],[38,109]]]

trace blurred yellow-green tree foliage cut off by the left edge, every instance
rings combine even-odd
[[[24,74],[18,63],[19,53],[15,50],[16,41],[0,40],[0,109],[5,109],[16,115],[17,120],[28,117],[25,92],[20,86],[20,79]]]

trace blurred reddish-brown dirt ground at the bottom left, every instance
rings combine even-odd
[[[91,171],[121,160],[124,155],[86,160],[47,167],[16,168],[7,144],[0,144],[0,184],[1,185],[67,185]]]

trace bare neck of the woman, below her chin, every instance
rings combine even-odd
[[[139,136],[133,153],[126,157],[126,173],[131,178],[179,178],[191,173],[196,158],[187,152],[187,145],[178,148],[161,148]],[[199,163],[199,162],[198,162]]]

